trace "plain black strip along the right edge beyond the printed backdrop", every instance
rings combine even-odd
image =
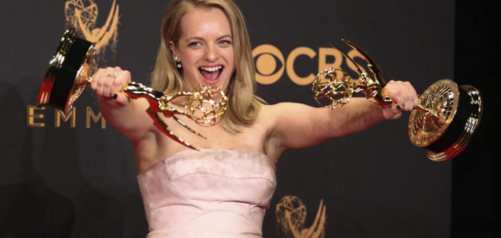
[[[452,236],[501,237],[499,196],[498,1],[457,1],[455,79],[475,85],[484,98],[484,115],[476,140],[453,161]]]

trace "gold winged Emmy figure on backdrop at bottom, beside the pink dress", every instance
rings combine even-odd
[[[323,200],[320,200],[313,225],[305,228],[306,206],[298,197],[289,195],[277,203],[275,215],[277,224],[287,237],[320,238],[325,235],[325,209]]]

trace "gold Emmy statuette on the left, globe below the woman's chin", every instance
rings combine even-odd
[[[95,43],[79,38],[73,28],[67,30],[49,62],[49,68],[38,91],[37,105],[49,104],[60,110],[70,110],[85,86],[92,80],[95,50]],[[225,93],[215,86],[200,86],[193,92],[164,95],[140,83],[131,82],[123,86],[122,92],[132,99],[145,98],[149,103],[146,113],[152,117],[154,125],[174,141],[194,150],[195,147],[168,129],[159,113],[172,117],[191,133],[205,138],[189,128],[176,115],[185,115],[199,125],[213,126],[225,113],[228,101]],[[179,97],[187,97],[184,111],[168,104]]]

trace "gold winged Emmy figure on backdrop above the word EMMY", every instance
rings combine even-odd
[[[75,28],[86,40],[96,43],[95,53],[98,55],[98,61],[104,59],[108,46],[112,52],[116,52],[119,23],[119,5],[116,0],[113,1],[106,22],[101,27],[95,26],[99,12],[93,0],[68,0],[64,12],[68,27]]]

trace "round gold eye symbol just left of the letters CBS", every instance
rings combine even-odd
[[[256,81],[260,84],[273,84],[282,77],[285,59],[280,50],[269,44],[260,45],[252,51],[253,57],[258,57],[256,59]],[[277,69],[276,58],[280,61],[282,66],[280,69],[273,74]]]

